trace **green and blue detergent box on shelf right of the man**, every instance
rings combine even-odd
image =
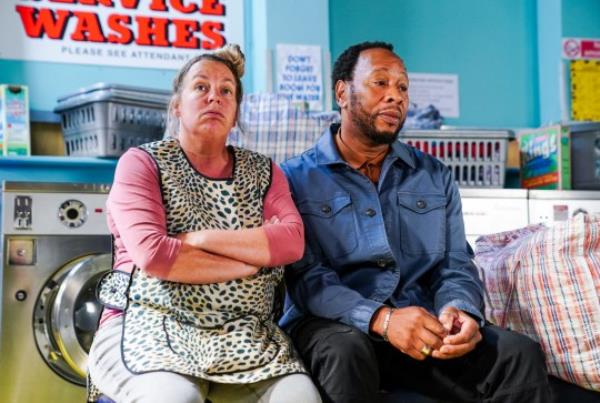
[[[521,186],[527,189],[571,189],[571,139],[561,125],[518,133]]]

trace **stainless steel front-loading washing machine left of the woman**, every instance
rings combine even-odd
[[[107,185],[5,182],[0,402],[84,402],[87,353],[110,270]]]

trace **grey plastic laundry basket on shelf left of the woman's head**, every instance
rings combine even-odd
[[[98,83],[58,99],[67,155],[119,157],[160,140],[170,92]]]

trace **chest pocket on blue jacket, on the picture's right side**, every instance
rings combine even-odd
[[[429,254],[445,251],[446,202],[443,194],[398,192],[404,252]]]

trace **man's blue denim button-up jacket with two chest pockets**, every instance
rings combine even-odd
[[[304,220],[306,250],[286,268],[281,326],[311,314],[368,333],[384,303],[434,314],[454,306],[482,319],[483,288],[448,168],[397,141],[375,185],[340,156],[338,126],[282,165]]]

